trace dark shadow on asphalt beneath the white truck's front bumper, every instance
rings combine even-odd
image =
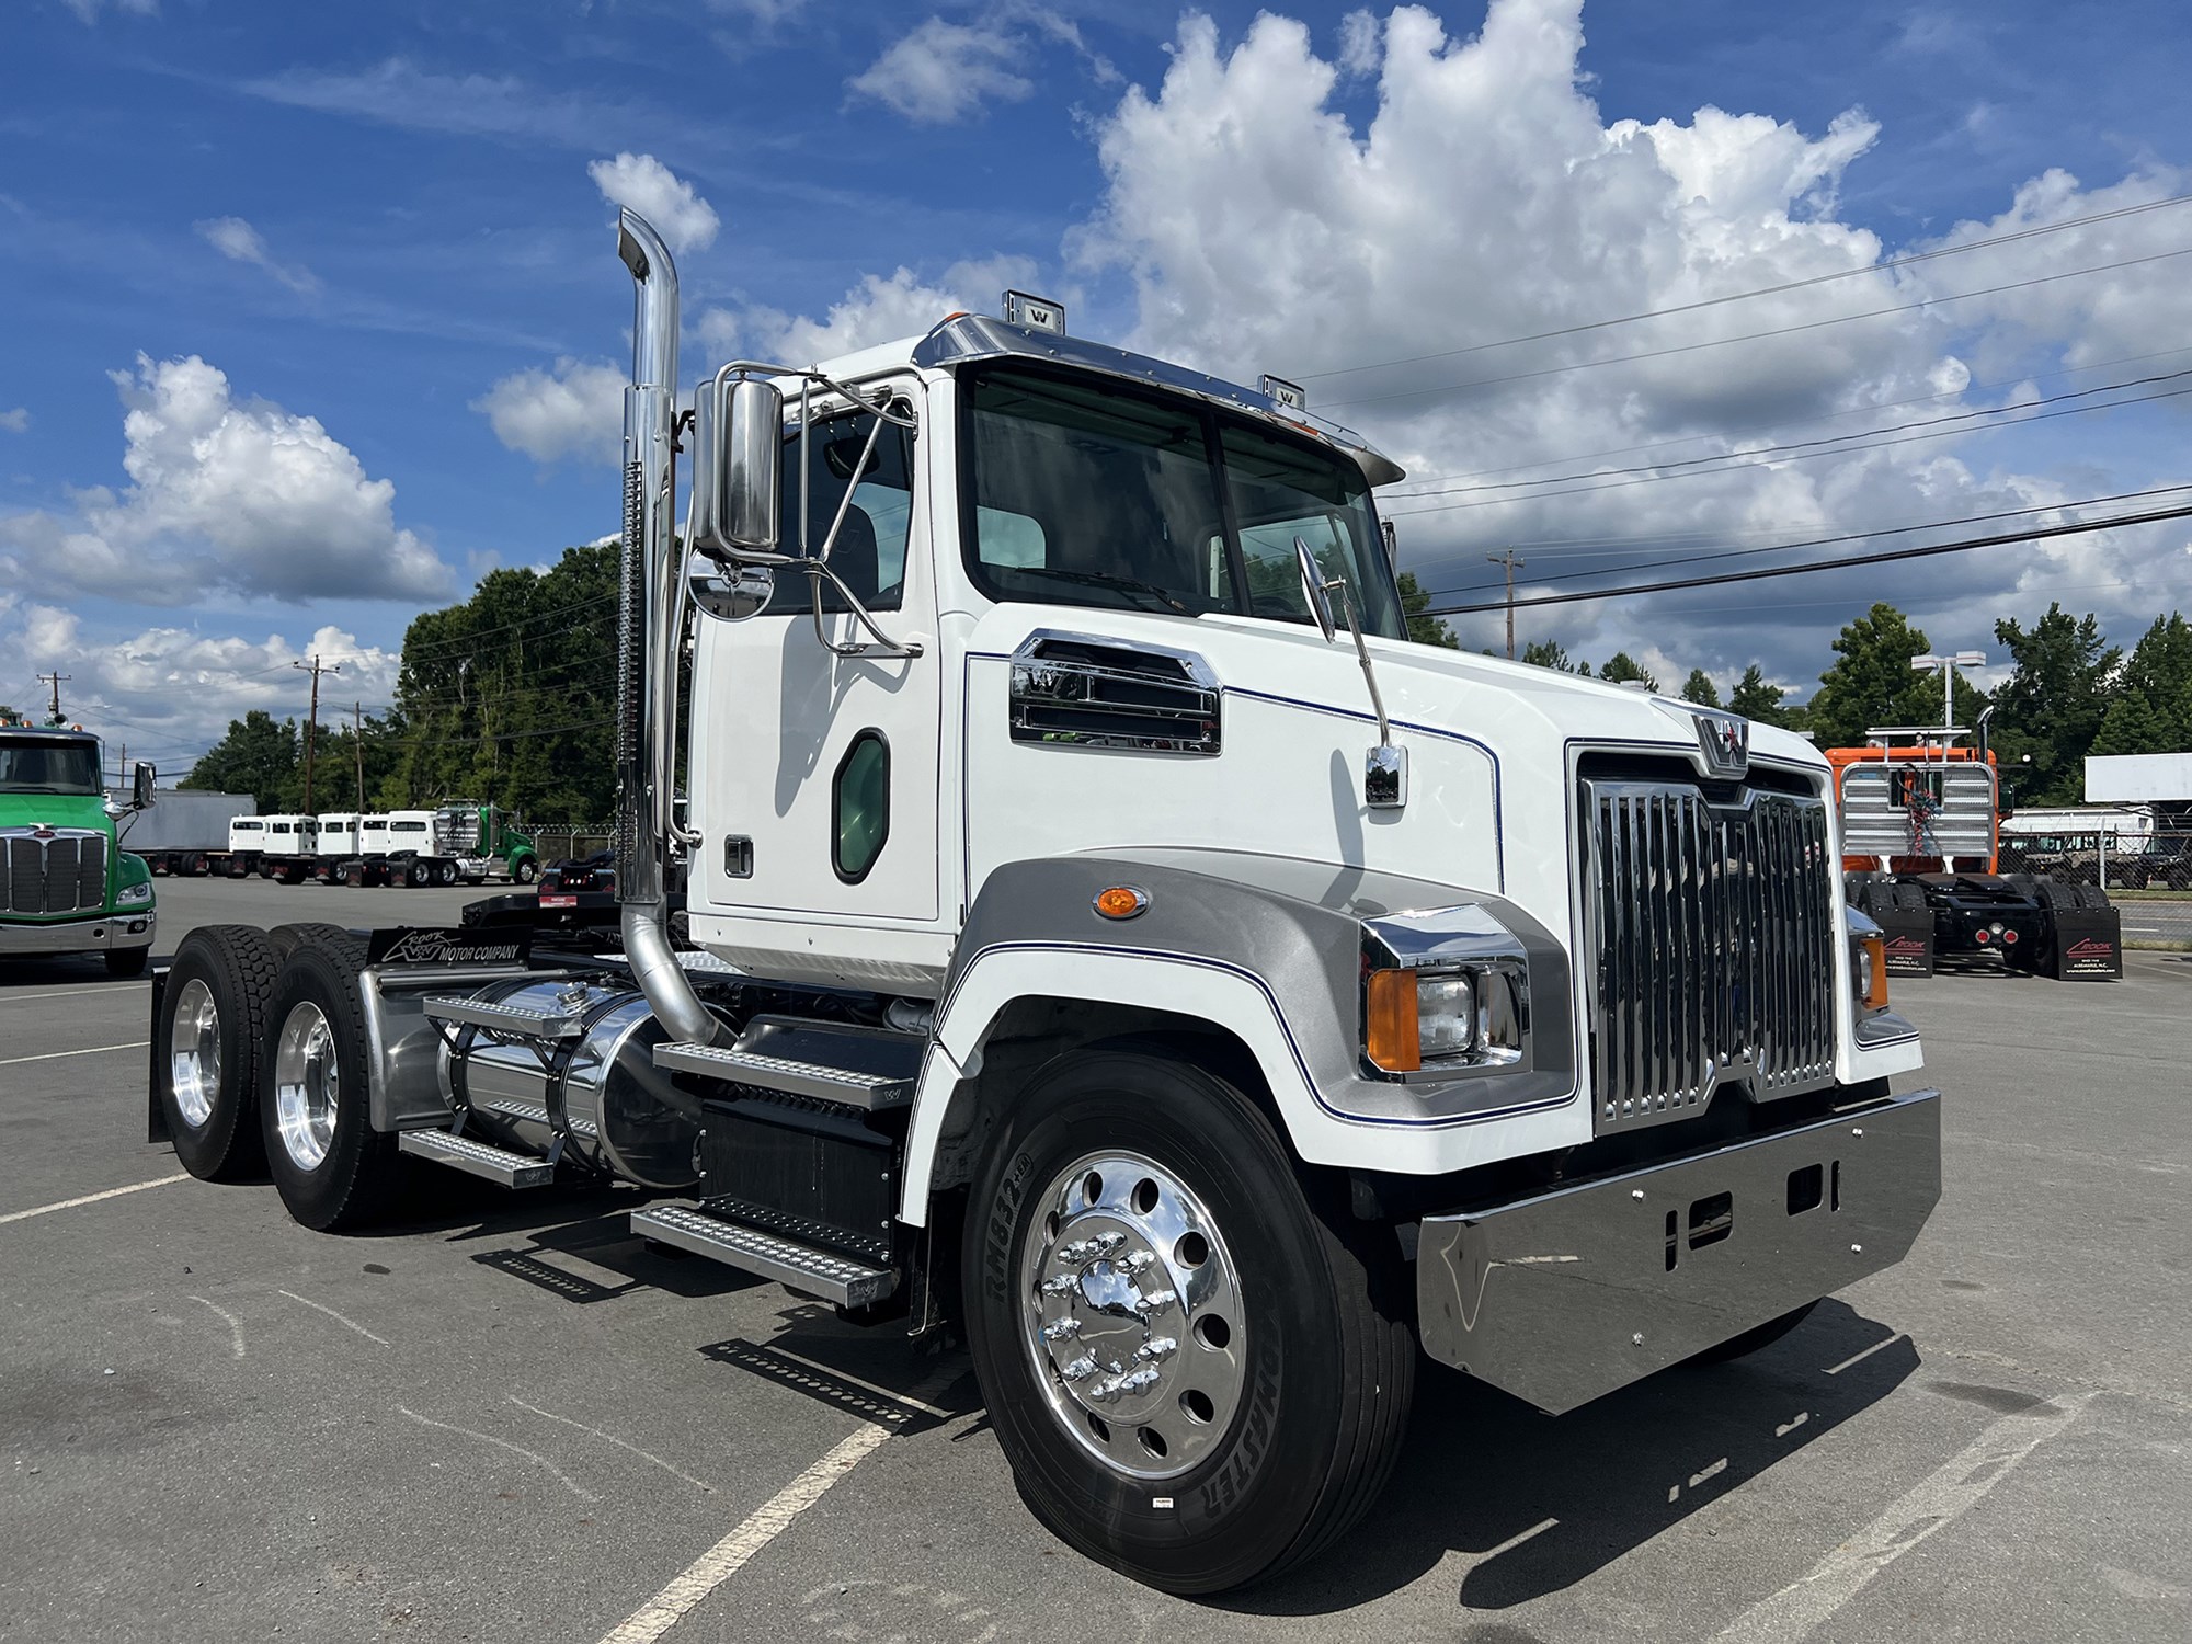
[[[1306,1569],[1219,1602],[1326,1616],[1464,1552],[1477,1559],[1462,1578],[1464,1611],[1526,1605],[1740,1488],[1916,1368],[1909,1337],[1837,1300],[1747,1359],[1664,1370],[1559,1418],[1420,1359],[1407,1449],[1370,1517]]]

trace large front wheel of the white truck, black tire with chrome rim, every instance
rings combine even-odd
[[[1398,1252],[1313,1208],[1238,1087],[1140,1050],[1061,1057],[973,1203],[975,1374],[1061,1539],[1214,1594],[1313,1559],[1377,1499],[1416,1374]],[[1065,1320],[1087,1333],[1043,1333]]]

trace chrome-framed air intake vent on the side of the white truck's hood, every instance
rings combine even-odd
[[[1219,682],[1188,651],[1035,633],[1013,653],[1013,741],[1217,754]]]

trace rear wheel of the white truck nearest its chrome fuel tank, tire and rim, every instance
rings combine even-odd
[[[300,943],[265,1013],[259,1124],[292,1219],[318,1232],[373,1221],[397,1184],[397,1138],[366,1109],[366,1011],[357,958]]]

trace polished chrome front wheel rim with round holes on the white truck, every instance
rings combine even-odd
[[[1019,1320],[1059,1427],[1107,1469],[1177,1477],[1241,1405],[1247,1317],[1210,1210],[1135,1153],[1074,1160],[1028,1201]]]

